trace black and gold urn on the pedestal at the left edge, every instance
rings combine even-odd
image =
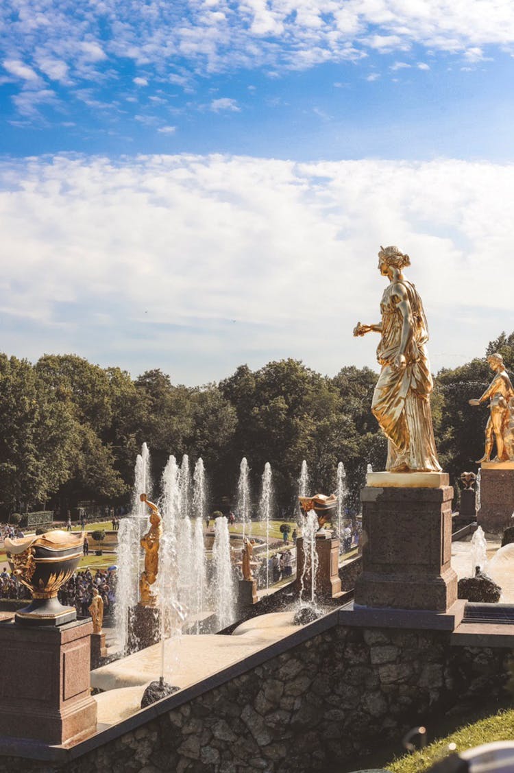
[[[77,619],[77,610],[64,607],[57,593],[83,556],[83,533],[55,530],[16,540],[6,537],[5,550],[13,574],[32,594],[29,606],[16,612],[16,622],[63,625]]]

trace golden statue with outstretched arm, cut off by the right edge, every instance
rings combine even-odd
[[[492,461],[514,461],[514,387],[509,379],[509,373],[505,370],[503,357],[498,352],[490,354],[487,358],[489,366],[495,371],[495,377],[489,384],[482,397],[469,400],[469,404],[476,406],[489,400],[491,415],[485,427],[485,451],[482,461],[491,461],[492,446],[496,441],[496,456]]]

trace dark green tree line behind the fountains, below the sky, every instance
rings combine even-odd
[[[493,351],[514,369],[514,332],[499,335],[484,355]],[[201,456],[209,499],[222,508],[235,504],[243,456],[256,499],[264,464],[271,463],[281,510],[294,507],[303,459],[311,493],[335,489],[342,461],[348,504],[358,509],[366,465],[383,469],[386,458],[386,440],[369,410],[376,377],[355,366],[323,376],[283,359],[188,387],[160,369],[132,379],[76,355],[44,355],[32,364],[0,354],[0,517],[84,500],[128,504],[143,441],[155,480],[170,454]],[[435,376],[434,432],[453,485],[482,456],[487,412],[468,400],[491,378],[484,356]]]

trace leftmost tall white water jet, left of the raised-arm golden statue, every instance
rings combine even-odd
[[[134,492],[131,515],[121,519],[117,534],[117,584],[115,620],[120,651],[128,650],[128,635],[133,628],[134,609],[139,600],[141,574],[141,536],[147,526],[145,502],[140,495],[151,491],[150,451],[143,443],[134,468]]]

